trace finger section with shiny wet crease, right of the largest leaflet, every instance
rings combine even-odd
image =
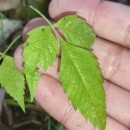
[[[93,50],[104,78],[130,91],[130,51],[100,38],[94,42]]]

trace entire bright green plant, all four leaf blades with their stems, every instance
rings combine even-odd
[[[98,68],[99,63],[90,51],[95,39],[93,30],[76,15],[63,17],[52,25],[37,9],[33,6],[29,7],[49,24],[31,30],[28,33],[29,38],[24,43],[24,75],[29,86],[31,101],[40,76],[37,67],[47,70],[53,65],[59,43],[61,46],[59,80],[68,99],[75,109],[80,110],[86,120],[90,120],[100,130],[104,130],[106,106],[102,87],[103,78]],[[62,31],[64,38],[60,36],[57,28]],[[0,83],[24,110],[24,76],[16,69],[13,58],[5,55],[15,41],[3,54],[0,54],[2,62]]]

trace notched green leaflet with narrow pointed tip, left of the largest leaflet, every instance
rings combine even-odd
[[[24,72],[33,100],[39,79],[37,67],[46,70],[52,66],[58,51],[57,41],[50,27],[38,27],[28,33],[29,38],[24,44]]]

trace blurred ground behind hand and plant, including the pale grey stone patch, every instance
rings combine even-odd
[[[110,0],[130,5],[130,0]],[[46,17],[50,0],[0,0],[0,52],[22,32],[24,25],[38,15],[28,9],[26,4],[34,5]],[[13,55],[21,39],[10,49]],[[23,113],[16,102],[0,87],[0,130],[65,130],[52,119],[34,101],[30,103],[29,93],[25,96],[26,113]]]

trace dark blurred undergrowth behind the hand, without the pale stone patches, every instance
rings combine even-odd
[[[110,1],[130,5],[130,0]],[[45,16],[49,17],[47,8],[50,0],[30,0],[29,2],[38,8],[38,10],[40,10],[43,14],[45,14]],[[3,39],[0,41],[0,51],[3,51],[11,43],[15,36],[22,31],[22,28],[27,23],[27,21],[37,17],[37,14],[28,8],[25,8],[21,3],[21,5],[14,9],[1,11],[0,16],[2,21],[4,19],[15,19],[22,22],[22,26],[11,32],[8,37],[5,37],[4,34],[1,33],[1,35],[3,35],[1,36]],[[1,27],[1,32],[2,29],[3,28]],[[17,46],[18,44],[12,47],[12,49],[9,51],[9,55],[13,54]],[[0,94],[1,92],[5,93],[2,89],[0,89]],[[23,111],[9,97],[9,95],[4,94],[3,98],[0,97],[0,130],[65,130],[62,125],[57,123],[46,112],[44,112],[35,101],[30,103],[28,100],[28,91],[26,93],[26,113],[23,113]]]

